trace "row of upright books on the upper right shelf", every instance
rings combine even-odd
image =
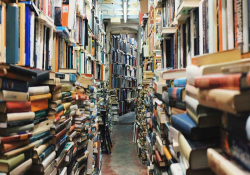
[[[234,48],[248,53],[249,7],[237,0],[164,1],[162,35],[169,37],[162,44],[162,67],[185,68],[193,56]]]

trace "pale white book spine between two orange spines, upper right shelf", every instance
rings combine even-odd
[[[233,0],[227,0],[227,40],[228,49],[234,49],[234,18]]]

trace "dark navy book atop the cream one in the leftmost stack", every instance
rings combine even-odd
[[[8,91],[28,92],[29,83],[9,78],[0,78],[0,89]]]

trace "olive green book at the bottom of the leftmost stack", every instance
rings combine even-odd
[[[18,165],[23,163],[24,160],[25,160],[24,154],[20,154],[8,160],[0,159],[0,171],[8,173],[14,168],[16,168]]]

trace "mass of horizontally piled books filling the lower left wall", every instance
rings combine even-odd
[[[7,64],[1,70],[13,76],[1,75],[0,172],[99,174],[96,88],[63,71]]]

